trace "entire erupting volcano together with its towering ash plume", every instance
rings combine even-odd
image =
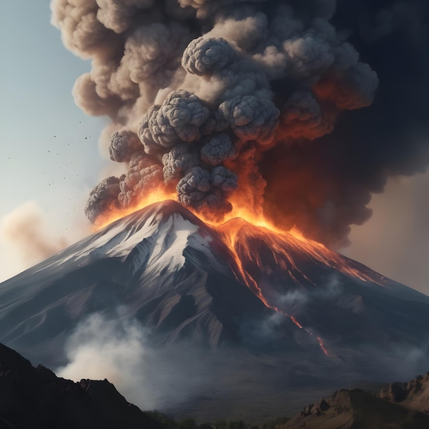
[[[427,371],[429,297],[334,252],[423,153],[380,132],[406,115],[377,103],[355,3],[52,0],[117,174],[90,192],[92,235],[0,285],[0,341],[66,376],[102,361],[194,415]]]

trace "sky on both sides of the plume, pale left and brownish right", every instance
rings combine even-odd
[[[75,106],[90,63],[67,51],[49,0],[0,5],[0,280],[90,233],[84,206],[112,162],[100,155],[108,119]],[[429,116],[429,113],[428,113]],[[389,179],[373,216],[342,253],[429,294],[429,173]]]

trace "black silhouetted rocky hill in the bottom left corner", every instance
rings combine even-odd
[[[0,344],[0,427],[160,428],[108,380],[72,382]]]

